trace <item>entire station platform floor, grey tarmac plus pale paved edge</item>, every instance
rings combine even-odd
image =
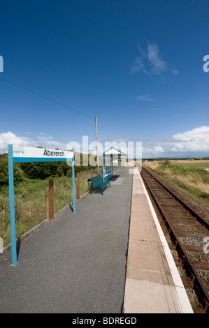
[[[193,313],[138,167],[0,260],[0,313]]]

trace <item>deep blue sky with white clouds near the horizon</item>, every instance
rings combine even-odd
[[[208,17],[208,0],[3,1],[0,152],[93,142],[97,117],[99,142],[209,156]]]

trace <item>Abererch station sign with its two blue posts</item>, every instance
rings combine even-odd
[[[8,144],[8,184],[10,202],[10,238],[13,265],[17,264],[17,245],[15,232],[15,194],[13,163],[21,162],[52,162],[71,161],[73,176],[73,213],[75,214],[75,163],[73,151],[60,151],[55,149],[19,147]]]

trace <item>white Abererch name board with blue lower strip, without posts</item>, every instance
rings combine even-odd
[[[67,161],[73,159],[73,151],[13,146],[13,160],[18,161]]]

